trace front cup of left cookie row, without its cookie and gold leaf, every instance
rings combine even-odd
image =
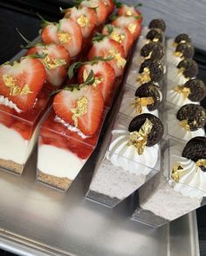
[[[86,198],[113,208],[160,170],[159,145],[139,155],[127,146],[131,118],[118,114],[106,134]],[[112,134],[111,134],[112,133]]]

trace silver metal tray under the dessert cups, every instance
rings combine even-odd
[[[0,247],[19,255],[198,256],[196,214],[154,230],[130,219],[131,200],[115,209],[85,199],[95,155],[66,194],[36,178],[36,153],[24,175],[0,172]]]

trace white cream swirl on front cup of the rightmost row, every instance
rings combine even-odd
[[[180,180],[178,182],[170,180],[169,185],[182,196],[200,199],[206,196],[206,173],[200,167],[196,167],[196,162],[182,157],[182,149],[182,146],[169,148],[171,167],[176,163],[182,167]]]

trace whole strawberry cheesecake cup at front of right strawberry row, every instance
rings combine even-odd
[[[64,191],[70,187],[93,153],[103,108],[100,91],[90,85],[65,88],[54,97],[40,130],[38,181]]]

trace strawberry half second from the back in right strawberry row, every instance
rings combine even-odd
[[[126,27],[129,32],[133,34],[134,40],[137,39],[141,33],[141,24],[140,22],[134,17],[125,17],[120,16],[113,20],[112,25],[118,27]]]

